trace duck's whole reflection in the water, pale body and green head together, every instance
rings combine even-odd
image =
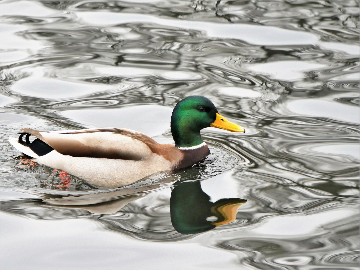
[[[170,218],[181,234],[206,232],[235,220],[238,207],[246,202],[240,198],[210,201],[200,180],[175,182],[170,197]],[[43,206],[86,210],[97,215],[114,214],[130,202],[148,195],[152,187],[124,188],[112,192],[85,193],[66,196],[46,195]]]

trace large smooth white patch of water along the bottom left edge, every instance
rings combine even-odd
[[[27,220],[5,214],[1,214],[1,220],[1,224],[6,224],[1,226],[1,242],[6,247],[7,254],[1,258],[2,269],[121,267],[180,270],[204,267],[220,269],[223,265],[227,269],[238,269],[237,256],[230,252],[219,252],[191,242],[178,244],[134,241],[124,235],[101,230],[94,222],[87,220]],[[15,257],[18,259],[14,260]]]

